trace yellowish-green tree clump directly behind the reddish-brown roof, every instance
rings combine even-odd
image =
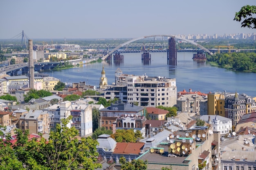
[[[115,139],[116,142],[122,142],[125,140],[126,142],[135,142],[138,137],[142,138],[141,134],[139,135],[139,132],[136,131],[136,137],[135,132],[133,129],[117,129],[115,134],[111,135],[113,139]]]

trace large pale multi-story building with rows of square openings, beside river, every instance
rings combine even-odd
[[[176,79],[165,77],[130,76],[127,79],[127,101],[138,106],[166,106],[177,104]]]

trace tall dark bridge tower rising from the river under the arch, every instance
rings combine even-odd
[[[168,62],[168,65],[177,66],[177,49],[176,49],[175,39],[173,37],[169,39],[169,50],[167,52],[167,62]]]

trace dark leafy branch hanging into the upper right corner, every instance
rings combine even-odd
[[[246,5],[243,6],[239,12],[236,12],[234,20],[241,22],[244,19],[241,23],[241,27],[256,29],[256,18],[252,17],[253,14],[256,14],[256,6]]]

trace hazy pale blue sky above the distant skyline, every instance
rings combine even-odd
[[[0,39],[255,33],[234,21],[255,0],[1,0]]]

